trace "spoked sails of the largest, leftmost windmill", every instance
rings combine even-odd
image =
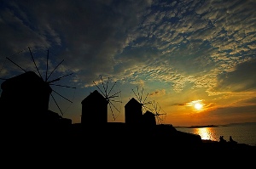
[[[23,53],[23,55],[22,55],[22,53]],[[31,58],[29,60],[27,58],[28,53],[31,56]],[[17,57],[16,59],[21,63],[21,65],[25,65],[26,68],[21,67],[20,65],[16,64],[15,61],[10,59],[10,57],[14,57],[15,55],[17,56],[17,54],[19,54],[19,57]],[[47,51],[47,59],[46,60],[44,60],[42,58],[41,58],[42,60],[39,60],[40,58],[38,60],[34,59],[31,48],[28,48],[28,51],[26,51],[26,49],[23,49],[22,51],[18,52],[17,54],[13,54],[10,57],[6,57],[6,60],[9,60],[12,65],[9,65],[9,70],[5,70],[5,72],[9,73],[9,74],[6,74],[5,76],[13,76],[13,75],[17,75],[18,73],[20,74],[21,70],[23,73],[21,73],[20,76],[28,75],[28,74],[32,75],[32,76],[37,75],[36,79],[40,79],[39,83],[43,84],[40,87],[44,86],[44,87],[50,88],[49,93],[47,93],[47,94],[49,94],[51,98],[49,99],[49,98],[45,97],[43,100],[44,102],[47,101],[47,110],[49,110],[49,104],[50,104],[49,102],[53,101],[56,108],[58,109],[58,111],[60,111],[61,115],[63,115],[63,111],[61,110],[60,105],[57,103],[56,97],[59,100],[64,99],[65,101],[67,101],[71,104],[73,103],[73,101],[71,99],[67,99],[67,97],[64,97],[63,94],[61,94],[58,91],[58,89],[60,89],[61,87],[66,87],[66,88],[73,90],[76,88],[76,87],[62,85],[60,83],[60,81],[63,80],[64,77],[73,75],[73,73],[68,73],[66,75],[63,75],[63,72],[65,72],[65,71],[61,70],[61,64],[64,61],[64,59],[62,59],[58,65],[53,67],[52,63],[49,62],[49,50]],[[5,61],[4,61],[3,65],[7,64]],[[38,61],[38,64],[37,64],[37,61]],[[44,61],[45,61],[45,65],[43,63]],[[46,66],[46,68],[44,66]],[[62,66],[62,69],[63,69],[63,66]],[[2,67],[2,70],[3,70],[3,67]],[[3,72],[4,72],[4,70],[3,70]],[[2,73],[2,72],[0,72],[0,73]],[[15,77],[17,77],[17,76],[15,76]],[[15,78],[15,77],[12,77],[12,78]],[[29,77],[30,76],[28,76],[28,78]],[[9,81],[9,79],[12,79],[12,78],[1,78],[1,80],[5,80],[5,82],[7,82],[7,81]],[[28,82],[32,82],[32,81],[33,81],[32,79],[28,79]],[[27,82],[27,84],[28,84],[28,82]],[[56,82],[59,82],[59,83],[56,83]],[[40,87],[32,87],[32,89],[34,90],[36,88],[38,91],[40,91],[42,89]],[[29,88],[27,88],[27,89],[29,89]],[[30,93],[33,93],[33,91],[30,91]],[[39,99],[39,97],[35,98],[35,99],[42,101],[42,99],[41,98]],[[27,105],[29,105],[29,104],[27,104]],[[38,107],[38,109],[40,109],[40,108]]]

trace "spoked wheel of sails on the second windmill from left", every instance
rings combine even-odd
[[[100,80],[93,81],[96,85],[99,93],[107,100],[108,102],[108,112],[111,112],[113,121],[116,121],[118,115],[120,114],[122,108],[122,96],[117,83],[113,82],[112,79],[102,79],[100,75]]]

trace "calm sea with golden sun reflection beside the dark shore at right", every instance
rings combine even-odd
[[[232,136],[238,144],[249,144],[256,146],[256,123],[236,124],[227,127],[201,127],[201,128],[185,128],[177,127],[178,131],[190,132],[198,134],[201,139],[210,139],[219,141],[219,136],[224,136],[226,141]]]

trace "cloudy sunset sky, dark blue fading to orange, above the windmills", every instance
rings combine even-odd
[[[56,82],[68,87],[52,86],[66,98],[53,93],[61,111],[53,99],[49,109],[73,123],[95,90],[114,96],[113,122],[125,122],[131,98],[162,124],[256,122],[255,7],[254,0],[1,0],[0,82],[24,72],[17,65],[52,71],[52,80],[68,75]]]

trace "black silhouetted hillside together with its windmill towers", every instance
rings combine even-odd
[[[200,135],[177,131],[171,124],[156,125],[155,115],[149,111],[143,114],[142,104],[136,99],[125,104],[129,121],[108,122],[108,100],[97,91],[82,101],[83,120],[73,124],[48,110],[51,88],[33,72],[15,76],[1,87],[1,153],[11,161],[28,155],[26,161],[40,156],[41,163],[48,162],[49,157],[61,157],[65,162],[63,159],[81,155],[88,162],[129,164],[139,160],[150,164],[161,160],[177,164],[175,157],[230,158],[256,152],[256,147],[247,144],[206,142]]]

